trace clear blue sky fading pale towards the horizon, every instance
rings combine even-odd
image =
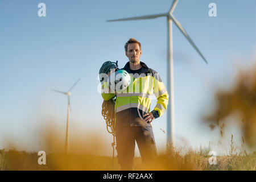
[[[46,17],[38,4],[46,4]],[[209,3],[217,16],[210,17]],[[71,138],[99,131],[110,143],[101,116],[98,71],[104,61],[127,61],[124,45],[129,38],[142,43],[141,61],[155,69],[167,86],[166,18],[126,22],[108,19],[167,13],[171,0],[102,1],[0,1],[0,148],[6,141],[22,150],[40,150],[40,128],[52,119],[65,133],[67,91],[81,78],[71,96]],[[249,67],[256,52],[256,1],[180,0],[174,16],[199,47],[209,65],[173,25],[175,138],[177,146],[199,148],[209,141],[216,151],[220,135],[210,131],[201,116],[214,106],[214,90],[232,85],[239,65]],[[151,109],[156,100],[152,101]],[[166,143],[166,114],[153,123],[157,146]],[[240,131],[231,129],[239,145]],[[225,143],[225,142],[224,142]],[[138,150],[137,150],[138,153]]]

